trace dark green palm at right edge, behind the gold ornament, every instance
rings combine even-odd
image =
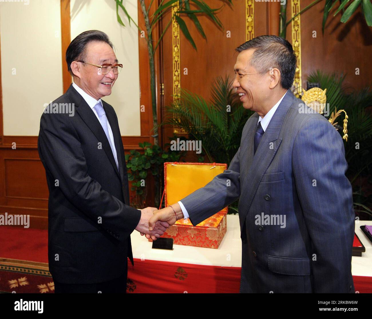
[[[372,115],[367,108],[372,105],[372,92],[369,87],[350,91],[350,88],[343,86],[344,78],[342,74],[328,75],[317,70],[311,73],[307,80],[320,83],[323,90],[327,88],[329,114],[337,107],[337,110],[344,109],[349,116],[347,124],[349,137],[347,142],[344,141],[345,158],[349,166],[346,174],[354,189],[355,211],[372,216],[372,210],[365,205],[370,199],[364,195],[362,187],[362,177],[371,180]],[[356,183],[358,179],[359,184]]]

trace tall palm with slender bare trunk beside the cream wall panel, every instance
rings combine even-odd
[[[134,23],[134,25],[140,30],[140,27],[135,23],[134,19],[129,15],[128,11],[125,9],[123,4],[123,0],[114,0],[116,2],[116,16],[118,22],[125,26],[120,15],[119,15],[119,7],[123,10],[124,14],[129,20],[130,23]],[[228,4],[232,5],[232,0],[221,0],[223,2],[227,2]],[[190,35],[189,30],[187,29],[186,23],[182,17],[188,17],[192,22],[195,24],[196,28],[198,29],[199,33],[202,35],[203,38],[206,39],[206,35],[202,28],[201,23],[198,20],[198,16],[201,14],[205,14],[218,26],[218,28],[223,28],[221,20],[218,19],[216,13],[219,9],[212,9],[202,0],[170,0],[164,3],[164,0],[156,1],[158,2],[158,7],[153,14],[150,14],[151,6],[154,3],[154,0],[150,1],[148,7],[146,7],[145,0],[139,0],[142,14],[145,20],[145,28],[146,28],[146,35],[145,40],[147,42],[148,48],[148,56],[150,61],[150,88],[151,88],[151,104],[152,104],[152,111],[153,111],[153,123],[154,123],[154,145],[158,145],[158,121],[157,121],[157,102],[156,102],[156,87],[155,87],[155,63],[154,63],[154,56],[156,49],[161,43],[164,34],[169,29],[173,19],[176,20],[177,24],[180,27],[181,32],[185,35],[187,41],[191,43],[194,49],[196,49],[195,42]],[[193,8],[191,8],[191,6]],[[175,10],[173,10],[175,9]],[[162,22],[163,17],[171,12],[169,22],[167,23],[166,27],[164,28],[163,32],[157,39],[157,42],[154,42],[154,30],[159,23]]]

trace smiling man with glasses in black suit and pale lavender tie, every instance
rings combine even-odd
[[[66,61],[74,83],[41,116],[38,150],[49,188],[48,259],[56,293],[125,293],[131,233],[156,240],[169,226],[149,231],[155,208],[129,206],[118,118],[101,100],[122,67],[112,47],[97,30],[71,41]]]

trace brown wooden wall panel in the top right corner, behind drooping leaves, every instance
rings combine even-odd
[[[301,9],[312,0],[301,0]],[[340,22],[341,14],[333,17],[331,10],[324,35],[322,19],[324,1],[301,14],[302,87],[306,88],[306,77],[320,69],[327,73],[346,74],[344,83],[351,88],[371,85],[370,70],[372,49],[372,28],[368,27],[360,9],[345,24]],[[289,28],[290,29],[290,28]],[[312,32],[317,37],[312,37]],[[355,74],[360,69],[360,75]]]

